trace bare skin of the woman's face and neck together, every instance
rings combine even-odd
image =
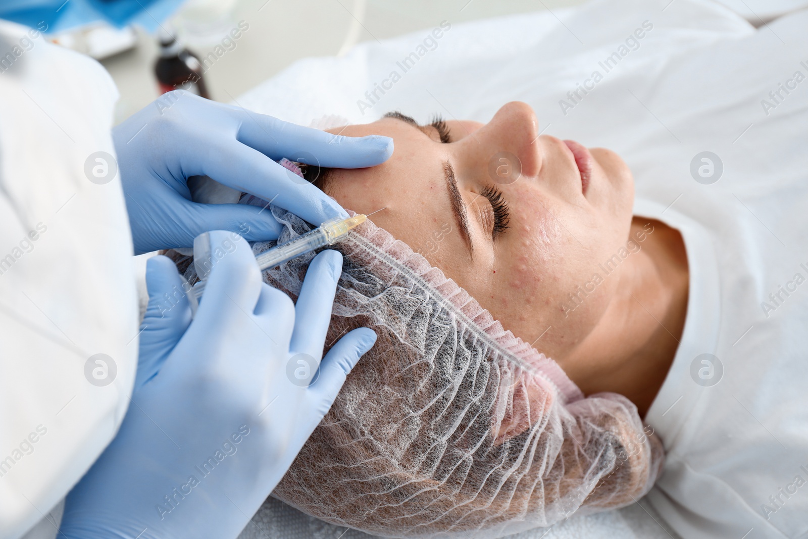
[[[576,145],[540,136],[532,108],[520,102],[487,124],[418,127],[393,116],[329,131],[395,144],[379,166],[330,171],[322,186],[330,196],[357,213],[385,208],[374,223],[556,360],[585,394],[624,394],[645,415],[684,328],[688,263],[678,231],[632,215],[633,176],[617,154],[591,149],[589,168],[578,146],[582,173]],[[521,163],[515,181],[490,174],[502,152]],[[446,162],[467,208],[470,251],[452,212]],[[508,208],[499,225],[497,191]]]

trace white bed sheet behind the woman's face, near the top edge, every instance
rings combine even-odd
[[[617,71],[608,74],[610,78],[650,80],[667,61],[689,49],[755,32],[742,17],[708,0],[595,1],[552,13],[461,24],[447,21],[451,29],[437,40],[437,47],[406,73],[398,64],[417,50],[433,28],[381,43],[368,41],[343,58],[297,61],[236,103],[307,125],[324,116],[364,124],[394,109],[416,120],[440,112],[447,118],[488,121],[505,100],[522,99],[537,110],[541,122],[552,123],[555,130],[562,120],[583,116],[570,112],[564,116],[558,99],[594,69],[603,70],[598,62],[614,53],[644,20],[654,25],[653,31],[640,40],[637,51],[621,60]],[[365,92],[384,82],[393,70],[401,80],[385,95],[377,94],[381,99],[364,109],[360,101],[370,103]],[[609,78],[600,84],[606,82]],[[588,101],[595,99],[587,96],[582,104]]]

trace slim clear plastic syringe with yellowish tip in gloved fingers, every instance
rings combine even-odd
[[[258,262],[258,267],[262,272],[270,267],[280,266],[284,262],[296,259],[298,256],[305,255],[322,246],[334,245],[345,238],[351,229],[364,223],[367,218],[368,216],[358,213],[354,217],[348,217],[347,219],[339,219],[339,217],[330,219],[314,230],[309,230],[309,232],[301,234],[297,238],[255,255],[255,261]],[[204,285],[211,269],[210,241],[205,234],[194,241],[194,267],[200,282],[191,288],[191,296],[193,296],[189,298],[191,304],[196,303],[195,300],[202,297]],[[196,307],[196,305],[192,305],[192,307]]]

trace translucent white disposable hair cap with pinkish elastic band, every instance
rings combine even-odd
[[[311,228],[272,213],[280,242]],[[326,349],[358,326],[378,339],[273,496],[376,536],[468,539],[625,506],[654,484],[662,444],[627,398],[584,398],[558,364],[372,222],[334,248],[345,260]],[[297,298],[313,257],[264,280]]]

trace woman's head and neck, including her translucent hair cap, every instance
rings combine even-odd
[[[356,213],[385,208],[335,246],[326,343],[379,339],[273,495],[382,537],[501,537],[646,494],[663,448],[640,418],[684,326],[688,263],[678,232],[632,216],[621,158],[537,137],[524,103],[485,125],[393,112],[338,131],[395,141],[380,166],[304,173]],[[273,213],[281,241],[310,229]],[[310,258],[265,280],[296,297]]]

